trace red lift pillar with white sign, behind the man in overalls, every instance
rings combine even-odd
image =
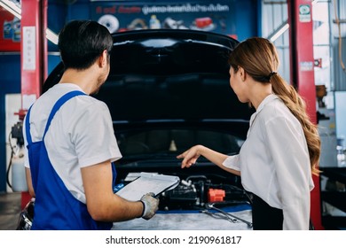
[[[41,95],[43,81],[47,77],[47,6],[48,0],[21,1],[20,120]],[[22,192],[22,208],[29,198],[28,192]]]

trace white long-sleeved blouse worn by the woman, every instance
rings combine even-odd
[[[314,184],[303,128],[278,96],[266,97],[251,116],[240,154],[224,160],[240,171],[245,190],[283,210],[283,229],[309,229]]]

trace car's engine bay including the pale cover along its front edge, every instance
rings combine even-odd
[[[149,226],[135,220],[125,227],[114,224],[114,229],[252,229],[251,195],[241,187],[240,178],[224,171],[222,176],[212,164],[201,169],[205,174],[179,174],[179,184],[157,196],[159,210]],[[177,176],[177,172],[165,174]]]

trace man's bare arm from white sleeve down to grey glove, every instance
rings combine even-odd
[[[125,200],[113,192],[111,162],[82,168],[88,211],[95,221],[128,221],[142,216],[142,202]]]

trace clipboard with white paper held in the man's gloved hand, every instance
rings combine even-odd
[[[179,182],[179,177],[174,175],[142,172],[137,179],[124,186],[115,194],[130,201],[138,201],[149,192],[153,192],[156,197],[163,191],[173,190]]]

